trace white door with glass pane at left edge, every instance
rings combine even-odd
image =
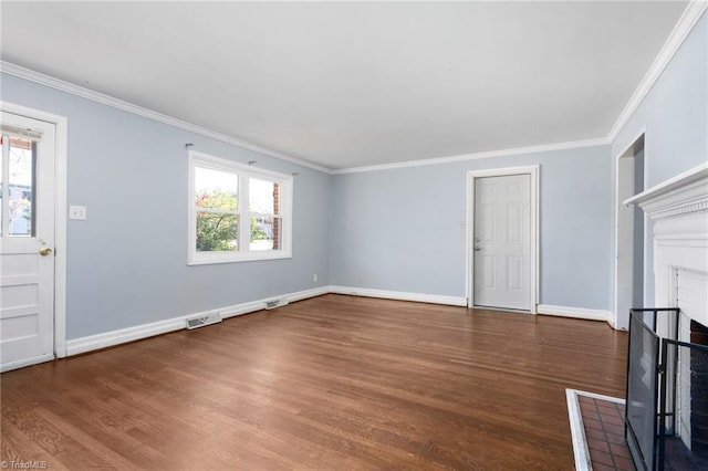
[[[2,112],[0,368],[54,357],[54,125]]]

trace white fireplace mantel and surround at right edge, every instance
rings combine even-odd
[[[638,203],[654,223],[655,306],[681,307],[708,326],[708,163],[624,203]]]

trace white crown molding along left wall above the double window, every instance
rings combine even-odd
[[[71,93],[72,95],[81,96],[82,98],[91,100],[93,102],[97,102],[106,106],[111,106],[117,109],[122,109],[124,112],[133,113],[143,117],[146,117],[148,119],[153,119],[159,123],[175,126],[179,129],[188,130],[190,133],[195,133],[200,136],[209,137],[215,140],[220,140],[222,143],[230,144],[232,146],[240,147],[246,150],[251,150],[261,155],[274,157],[281,160],[287,160],[292,164],[301,165],[303,167],[309,167],[325,174],[329,174],[331,171],[330,168],[327,167],[323,167],[321,165],[313,164],[311,161],[300,159],[296,157],[291,157],[289,155],[281,154],[277,150],[269,149],[267,147],[261,147],[256,144],[247,143],[241,139],[237,139],[236,137],[232,137],[222,133],[217,133],[216,130],[211,130],[206,127],[198,126],[196,124],[187,123],[185,121],[177,119],[168,115],[164,115],[153,109],[134,105],[133,103],[124,102],[123,100],[118,100],[113,96],[73,84],[71,82],[66,82],[61,78],[56,78],[50,75],[42,74],[40,72],[32,71],[30,69],[22,67],[11,62],[0,61],[0,72],[7,73],[9,75],[14,75],[20,78],[24,78],[30,82],[38,83],[40,85],[49,86],[51,88],[55,88],[61,92]]]

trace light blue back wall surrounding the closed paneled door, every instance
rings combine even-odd
[[[537,164],[540,302],[607,310],[608,146],[337,175],[332,283],[465,296],[467,172]]]

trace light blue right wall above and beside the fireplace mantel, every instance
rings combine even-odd
[[[644,140],[645,189],[708,161],[708,13],[694,27],[649,93],[612,143],[616,158],[646,129]],[[612,187],[611,242],[615,251],[615,186]],[[654,304],[654,250],[652,227],[645,227],[644,304]],[[615,296],[615,273],[610,273],[611,296]]]

